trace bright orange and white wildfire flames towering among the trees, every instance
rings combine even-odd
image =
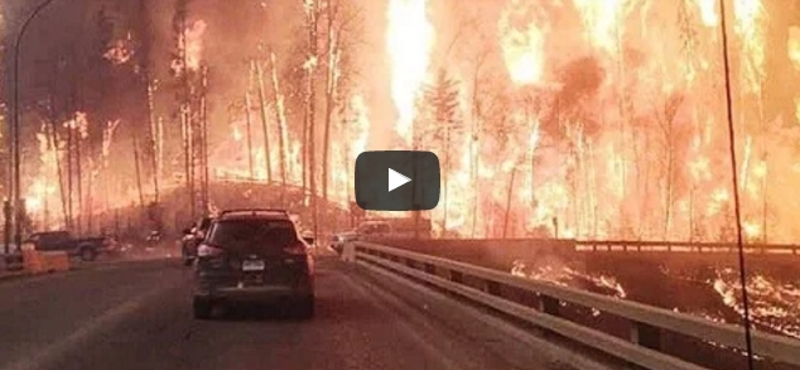
[[[450,35],[440,31],[446,27],[437,24],[441,17],[431,13],[429,1],[387,0],[382,40],[390,73],[380,83],[389,87],[394,112],[369,105],[367,92],[375,90],[367,83],[356,83],[336,97],[340,106],[332,114],[333,122],[346,124],[331,128],[329,198],[341,205],[352,201],[356,155],[376,143],[391,143],[394,148],[429,149],[439,155],[444,188],[431,218],[436,229],[449,236],[557,233],[597,239],[730,239],[732,189],[725,180],[730,165],[720,100],[720,13],[714,0],[679,3],[498,1],[503,5],[496,18],[486,15],[480,23],[491,30],[487,33],[493,45],[485,48],[487,67],[479,69],[462,60],[463,53],[475,49],[468,43],[454,44],[462,54],[442,56]],[[735,0],[732,9],[742,226],[751,240],[795,242],[800,226],[793,220],[800,201],[793,189],[800,181],[800,162],[792,145],[800,137],[800,96],[792,102],[796,117],[765,115],[770,16],[761,0]],[[574,14],[574,19],[565,14]],[[187,25],[185,40],[179,40],[187,69],[202,69],[204,39],[215,32],[203,20]],[[342,37],[331,40],[339,45]],[[467,31],[462,39],[470,37]],[[129,44],[111,45],[106,57],[114,64],[128,61],[135,55]],[[561,52],[565,50],[569,53]],[[789,30],[787,51],[786,58],[800,71],[796,27]],[[358,57],[346,53],[314,59],[336,64],[334,84],[347,73],[338,63]],[[292,82],[283,81],[273,68],[289,60],[270,53],[260,65],[264,73],[250,78],[244,90],[250,97],[245,110],[251,122],[241,111],[229,117],[227,137],[215,140],[210,150],[215,175],[275,181],[283,171],[277,164],[283,158],[286,180],[305,183],[308,148],[296,129],[300,122],[288,117],[291,112],[285,105]],[[172,67],[180,71],[183,63],[176,61]],[[441,70],[446,70],[442,78]],[[266,101],[266,118],[259,115],[255,79],[266,86],[266,98],[260,99]],[[455,91],[451,105],[442,103],[452,110],[446,123],[441,109],[428,106],[433,104],[430,94],[440,85]],[[244,98],[243,93],[231,100]],[[177,127],[168,117],[163,119],[165,126]],[[262,119],[268,121],[269,150],[260,130]],[[386,132],[393,132],[394,140],[370,135],[382,125],[389,126]],[[26,195],[34,212],[45,202],[60,202],[52,180],[57,177],[54,150],[63,157],[58,145],[63,146],[43,144],[38,176],[28,182]],[[164,187],[180,185],[165,177]],[[129,204],[130,199],[116,203]],[[41,212],[37,217],[43,219]]]

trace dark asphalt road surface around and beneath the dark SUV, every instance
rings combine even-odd
[[[191,278],[149,261],[0,282],[0,369],[574,368],[519,329],[332,258],[309,321],[268,308],[194,320]]]

